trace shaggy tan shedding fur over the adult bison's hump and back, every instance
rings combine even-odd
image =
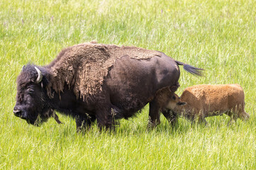
[[[67,83],[74,86],[77,98],[84,100],[102,90],[104,77],[117,59],[129,56],[132,59],[145,60],[160,55],[161,52],[140,47],[118,47],[95,42],[67,47],[47,66],[54,75],[54,84],[48,84],[47,87],[48,96],[51,96],[51,87],[60,93]]]

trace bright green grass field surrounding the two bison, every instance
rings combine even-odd
[[[228,116],[171,128],[161,116],[147,130],[148,106],[115,132],[96,125],[77,134],[72,118],[40,128],[16,118],[16,77],[24,64],[45,65],[64,47],[97,40],[135,45],[206,69],[184,72],[177,94],[194,84],[243,86],[250,120]],[[256,169],[255,2],[224,0],[0,1],[0,169]]]

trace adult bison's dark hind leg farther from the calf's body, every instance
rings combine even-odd
[[[149,127],[155,127],[156,125],[160,124],[160,106],[157,104],[155,99],[150,102],[150,113],[149,113]]]

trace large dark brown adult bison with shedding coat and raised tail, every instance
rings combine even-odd
[[[139,47],[89,42],[62,50],[50,64],[27,64],[17,79],[14,115],[33,125],[54,111],[71,115],[77,130],[94,120],[100,128],[111,128],[114,119],[130,118],[150,103],[150,124],[159,120],[158,90],[179,87],[179,67],[192,74],[201,70],[178,62],[162,52]]]

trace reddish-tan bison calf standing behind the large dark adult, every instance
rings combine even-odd
[[[244,110],[245,94],[239,84],[190,86],[184,90],[180,98],[177,94],[169,94],[172,98],[166,98],[165,108],[174,114],[183,115],[192,123],[195,120],[206,123],[206,117],[223,113],[230,116],[230,122],[237,118],[249,118],[249,114]]]

